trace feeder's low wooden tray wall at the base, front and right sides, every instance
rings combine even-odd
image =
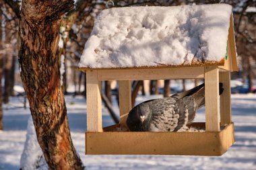
[[[86,154],[220,156],[233,134],[233,124],[221,132],[86,132]]]

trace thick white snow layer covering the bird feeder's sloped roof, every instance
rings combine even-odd
[[[121,7],[103,10],[79,67],[127,68],[218,63],[226,55],[232,7]]]

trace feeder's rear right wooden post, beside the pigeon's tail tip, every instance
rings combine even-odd
[[[220,125],[230,124],[231,99],[230,99],[230,72],[220,72],[220,82],[223,83],[224,91],[220,95]]]

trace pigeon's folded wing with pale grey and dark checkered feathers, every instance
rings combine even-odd
[[[185,103],[171,97],[158,99],[150,103],[152,124],[150,131],[177,131],[187,124],[188,113]]]

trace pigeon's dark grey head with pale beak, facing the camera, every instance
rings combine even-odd
[[[143,124],[145,120],[148,120],[148,118],[150,117],[150,114],[151,114],[151,110],[147,103],[141,103],[137,105],[136,116],[139,119],[139,122],[141,122],[141,124]]]

